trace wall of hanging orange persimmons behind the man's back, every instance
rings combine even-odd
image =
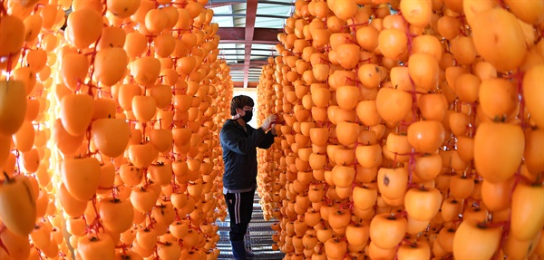
[[[207,2],[0,3],[1,259],[217,259],[232,82]]]

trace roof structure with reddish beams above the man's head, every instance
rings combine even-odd
[[[219,24],[219,57],[230,66],[234,86],[256,87],[267,58],[277,56],[286,19],[295,11],[293,0],[209,0],[212,23]]]

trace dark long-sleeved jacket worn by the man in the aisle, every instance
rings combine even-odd
[[[223,148],[225,174],[223,186],[230,190],[257,188],[257,147],[268,149],[274,143],[272,131],[265,133],[246,124],[248,132],[236,120],[227,120],[219,133]]]

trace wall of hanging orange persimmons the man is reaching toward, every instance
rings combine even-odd
[[[544,6],[296,1],[259,101],[286,259],[544,255]]]

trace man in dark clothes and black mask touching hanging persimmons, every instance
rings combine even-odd
[[[253,213],[253,197],[257,188],[257,147],[268,149],[276,136],[276,115],[267,117],[257,130],[248,125],[254,105],[248,96],[232,98],[232,119],[225,122],[219,134],[225,162],[223,194],[230,217],[228,235],[232,253],[237,260],[248,259],[248,256],[253,255],[251,251],[246,252],[244,236]]]

